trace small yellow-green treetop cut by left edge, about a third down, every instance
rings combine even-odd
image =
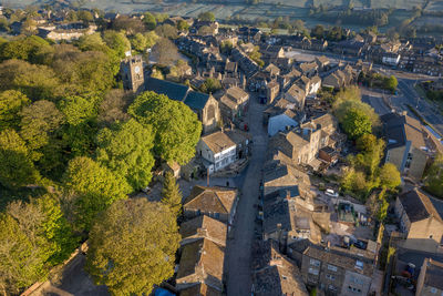
[[[18,129],[19,112],[31,103],[31,101],[19,91],[0,92],[0,130]]]

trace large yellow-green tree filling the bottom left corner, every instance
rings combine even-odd
[[[54,196],[9,204],[0,215],[0,284],[14,294],[44,280],[50,267],[66,259],[75,245]]]

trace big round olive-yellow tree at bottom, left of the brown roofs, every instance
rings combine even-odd
[[[148,295],[173,276],[179,239],[167,206],[144,198],[120,201],[91,229],[86,271],[112,295]]]

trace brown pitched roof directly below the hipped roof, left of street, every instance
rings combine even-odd
[[[200,215],[182,223],[179,233],[183,238],[187,238],[189,236],[200,236],[226,246],[226,224],[206,215]]]

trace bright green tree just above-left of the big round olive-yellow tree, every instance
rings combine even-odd
[[[93,160],[79,156],[70,161],[63,178],[64,202],[78,231],[89,231],[99,213],[131,192],[122,177]]]

